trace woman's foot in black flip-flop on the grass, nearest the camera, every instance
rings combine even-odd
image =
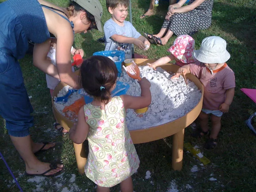
[[[44,163],[41,161],[37,161],[34,165],[30,166],[26,164],[26,173],[28,174],[42,174],[50,169],[50,163]],[[57,164],[57,168],[50,170],[46,175],[53,175],[57,172],[60,172],[63,169],[62,164]]]

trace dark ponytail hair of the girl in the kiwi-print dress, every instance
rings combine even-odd
[[[80,67],[80,86],[94,98],[100,98],[107,104],[110,99],[110,90],[117,80],[116,64],[105,56],[91,56],[83,61]],[[101,87],[104,87],[101,89]]]

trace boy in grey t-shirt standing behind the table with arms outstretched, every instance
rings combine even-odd
[[[128,4],[129,0],[106,0],[106,6],[112,17],[104,25],[105,50],[123,50],[125,59],[132,58],[131,44],[143,50],[150,47],[150,42],[125,20],[128,15]]]

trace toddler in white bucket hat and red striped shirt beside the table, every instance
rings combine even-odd
[[[226,41],[211,36],[203,39],[199,50],[195,50],[195,63],[179,68],[172,77],[192,73],[204,86],[203,108],[199,114],[200,128],[192,137],[201,138],[208,134],[208,117],[211,118],[211,134],[204,148],[213,149],[217,145],[217,136],[221,129],[221,116],[229,111],[236,87],[232,69],[227,66],[230,54],[226,50]]]

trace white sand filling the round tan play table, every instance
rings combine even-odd
[[[141,77],[146,77],[151,83],[152,102],[151,105],[148,106],[147,112],[140,115],[140,117],[138,117],[135,110],[127,110],[126,122],[129,130],[150,128],[176,120],[190,112],[200,101],[201,92],[197,89],[195,83],[191,82],[189,79],[188,92],[191,97],[190,99],[187,97],[187,86],[182,76],[170,79],[173,74],[169,74],[160,67],[158,67],[156,71],[148,66],[139,68]],[[125,71],[123,71],[119,81],[129,84],[128,95],[140,95],[141,90],[139,83],[137,80],[130,78]],[[68,86],[60,91],[58,97],[65,95],[67,91]],[[81,97],[82,95],[78,94],[78,92],[73,93],[67,103],[55,103],[55,106],[64,116],[62,112],[64,106],[71,105]],[[71,116],[71,114],[71,112],[68,112],[68,116]]]

